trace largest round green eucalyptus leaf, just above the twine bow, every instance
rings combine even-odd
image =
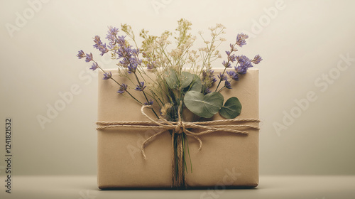
[[[204,118],[210,118],[219,112],[223,101],[223,95],[219,92],[210,92],[207,95],[203,95],[201,92],[191,90],[186,92],[184,97],[184,103],[187,109],[197,114],[197,116]]]

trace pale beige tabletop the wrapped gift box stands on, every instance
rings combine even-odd
[[[252,189],[99,190],[96,176],[14,176],[11,194],[1,176],[1,199],[7,198],[355,198],[355,176],[261,176]]]

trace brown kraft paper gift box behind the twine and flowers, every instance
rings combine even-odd
[[[224,68],[214,68],[217,77]],[[120,83],[130,83],[119,77],[117,70],[112,77]],[[149,73],[149,72],[148,72]],[[153,75],[153,74],[152,74]],[[117,93],[119,85],[112,80],[102,80],[99,72],[98,121],[146,121],[141,114],[141,105],[131,97]],[[236,84],[236,85],[234,85]],[[241,114],[237,117],[258,119],[258,70],[249,69],[240,80],[232,82],[231,90],[222,90],[224,102],[229,97],[238,97]],[[140,92],[132,90],[135,97]],[[143,100],[142,100],[143,101]],[[154,118],[148,110],[146,113]],[[224,119],[217,113],[212,119]],[[228,123],[226,123],[228,124]],[[257,123],[249,122],[258,126]],[[187,137],[192,161],[187,158],[187,188],[256,187],[258,185],[258,136],[256,129],[246,129],[248,135],[214,132],[200,136],[201,151],[195,139]],[[168,131],[156,136],[146,145],[144,160],[141,144],[156,129],[112,128],[98,133],[99,188],[171,188],[172,161],[171,135]]]

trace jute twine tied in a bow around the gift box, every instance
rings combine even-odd
[[[175,139],[175,134],[181,135],[182,133],[185,133],[187,136],[191,136],[192,138],[196,139],[199,141],[200,146],[199,146],[199,151],[202,149],[202,141],[199,138],[199,136],[202,136],[204,134],[210,134],[216,131],[222,131],[222,132],[228,132],[228,133],[233,133],[233,134],[248,134],[248,131],[242,131],[238,129],[259,129],[257,126],[253,125],[246,125],[246,124],[229,124],[229,125],[222,125],[222,123],[225,122],[260,122],[259,119],[222,119],[222,120],[213,120],[213,121],[207,121],[207,122],[183,122],[180,116],[180,113],[178,114],[178,122],[170,122],[163,117],[159,117],[158,120],[152,119],[149,117],[145,112],[144,109],[146,108],[152,108],[151,105],[144,105],[141,107],[141,113],[149,119],[149,121],[129,121],[129,122],[96,122],[96,124],[99,125],[97,127],[97,130],[102,130],[102,129],[109,129],[109,128],[138,128],[138,129],[161,129],[161,131],[158,131],[156,134],[153,134],[152,136],[148,137],[145,141],[143,141],[143,144],[141,145],[141,152],[143,155],[143,158],[146,160],[146,152],[145,152],[145,147],[146,144],[148,144],[151,139],[154,139],[156,136],[162,134],[164,131],[172,131],[172,150],[174,151],[174,154],[177,154],[177,157],[173,156],[172,161],[173,161],[173,169],[172,169],[172,177],[173,177],[173,186],[177,187],[182,187],[185,186],[185,172],[184,172],[184,165],[182,162],[182,156],[183,156],[183,147],[182,147],[182,139],[177,139],[177,147],[175,151],[174,147],[174,139]],[[205,126],[208,125],[208,126]],[[232,129],[229,129],[232,128]],[[200,129],[203,131],[200,132],[192,132],[189,129]],[[178,163],[175,161],[178,160]],[[178,168],[175,168],[175,165],[178,164]],[[178,173],[176,173],[178,172]]]

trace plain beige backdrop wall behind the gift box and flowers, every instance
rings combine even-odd
[[[354,175],[355,61],[337,69],[342,55],[355,58],[354,6],[355,1],[0,1],[0,128],[6,117],[13,119],[13,173],[94,175],[97,76],[75,57],[77,50],[99,58],[92,37],[104,38],[107,26],[129,23],[137,34],[141,28],[159,34],[173,31],[183,17],[192,21],[194,33],[224,24],[228,42],[222,47],[236,33],[250,33],[240,53],[263,57],[257,66],[261,175]],[[104,68],[114,68],[99,59]],[[327,82],[323,74],[329,72]],[[48,117],[48,106],[63,102],[68,92],[73,97],[41,127],[38,117]],[[297,108],[295,100],[308,92],[314,102]],[[297,118],[284,124],[285,112]],[[275,123],[285,129],[278,133]],[[2,159],[4,134],[0,143]],[[0,171],[3,176],[4,161]]]

